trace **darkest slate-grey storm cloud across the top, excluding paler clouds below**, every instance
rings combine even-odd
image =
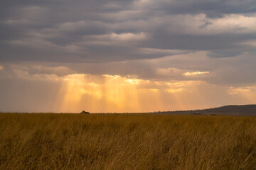
[[[216,18],[250,16],[255,7],[250,0],[4,1],[0,61],[109,62],[174,55],[142,54],[142,48],[225,50],[221,56],[230,57],[240,42],[255,40],[255,34],[246,26],[230,32],[207,29],[214,28]],[[198,18],[202,13],[206,16]],[[199,25],[189,31],[194,18]],[[135,38],[139,33],[144,37]]]

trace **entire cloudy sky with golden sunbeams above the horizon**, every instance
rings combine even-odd
[[[1,2],[2,112],[253,104],[255,73],[255,0]]]

